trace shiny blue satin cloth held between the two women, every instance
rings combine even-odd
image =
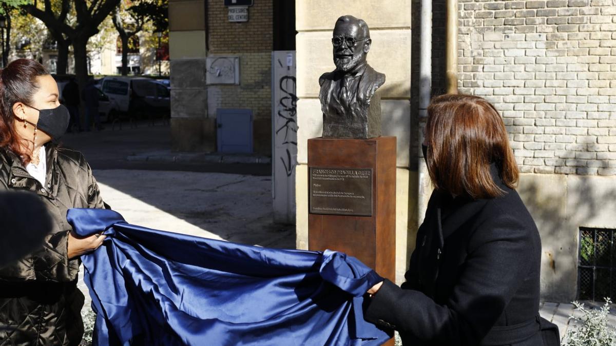
[[[81,256],[97,313],[94,345],[380,345],[363,294],[382,280],[335,251],[247,246],[70,209],[78,235],[107,239]]]

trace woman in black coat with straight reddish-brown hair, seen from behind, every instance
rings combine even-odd
[[[558,345],[538,313],[541,240],[498,111],[477,96],[435,97],[424,137],[434,191],[406,282],[368,290],[365,318],[403,345]]]

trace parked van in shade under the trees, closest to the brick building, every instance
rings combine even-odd
[[[155,79],[144,77],[108,76],[99,82],[100,89],[115,102],[117,109],[130,116],[169,116],[169,88]]]

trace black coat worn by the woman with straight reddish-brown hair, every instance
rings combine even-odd
[[[493,327],[538,315],[539,233],[517,192],[492,171],[505,196],[432,193],[406,282],[386,280],[367,300],[365,318],[399,331],[404,345],[484,345]],[[542,345],[541,336],[513,345]]]

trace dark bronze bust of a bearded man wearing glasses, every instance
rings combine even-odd
[[[375,92],[385,82],[385,74],[366,62],[372,43],[368,25],[362,19],[343,15],[336,21],[331,43],[336,70],[318,79],[323,137],[379,137],[381,104]]]

